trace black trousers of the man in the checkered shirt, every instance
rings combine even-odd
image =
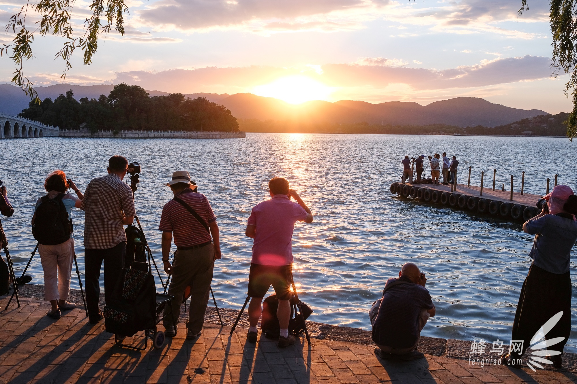
[[[84,273],[86,285],[86,306],[88,318],[96,321],[100,317],[98,300],[100,298],[100,267],[104,261],[104,300],[108,303],[114,286],[124,268],[126,255],[126,242],[120,242],[117,246],[108,249],[87,249],[84,251]]]

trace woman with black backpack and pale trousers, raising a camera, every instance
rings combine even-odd
[[[66,193],[72,188],[78,197]],[[38,240],[38,251],[44,270],[44,299],[52,305],[48,317],[59,319],[61,311],[76,304],[66,302],[74,261],[72,207],[80,208],[83,194],[66,174],[57,170],[44,181],[48,194],[36,202],[32,217],[32,234]]]

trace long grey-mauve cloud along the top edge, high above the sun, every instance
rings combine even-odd
[[[181,31],[215,28],[254,32],[342,31],[359,28],[355,20],[359,14],[370,14],[388,3],[388,0],[160,0],[138,11],[138,21],[157,29]],[[375,16],[369,18],[374,20]]]

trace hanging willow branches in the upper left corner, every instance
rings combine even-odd
[[[10,17],[6,25],[6,32],[12,31],[14,38],[11,44],[3,44],[0,55],[8,55],[14,63],[16,70],[12,82],[20,86],[36,103],[40,103],[38,93],[32,88],[33,84],[24,74],[24,61],[32,58],[32,42],[35,35],[56,35],[63,37],[65,43],[54,58],[62,58],[65,61],[65,69],[62,71],[62,80],[66,78],[66,72],[72,68],[70,59],[77,48],[84,52],[84,64],[90,65],[92,57],[98,49],[98,37],[100,33],[108,33],[114,28],[119,35],[124,35],[124,13],[128,12],[124,0],[92,0],[92,3],[84,10],[91,15],[85,18],[84,31],[81,36],[74,37],[70,14],[74,7],[74,1],[70,0],[40,0],[38,3],[27,2],[20,8],[20,12]],[[35,23],[35,28],[29,29],[26,24],[28,13],[36,12],[40,21]],[[105,20],[103,25],[102,18]]]

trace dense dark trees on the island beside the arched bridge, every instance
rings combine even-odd
[[[72,91],[54,101],[30,101],[19,116],[38,120],[62,129],[98,130],[187,130],[238,131],[238,122],[230,110],[204,97],[190,100],[180,93],[149,97],[137,85],[115,85],[110,95],[76,101]]]

